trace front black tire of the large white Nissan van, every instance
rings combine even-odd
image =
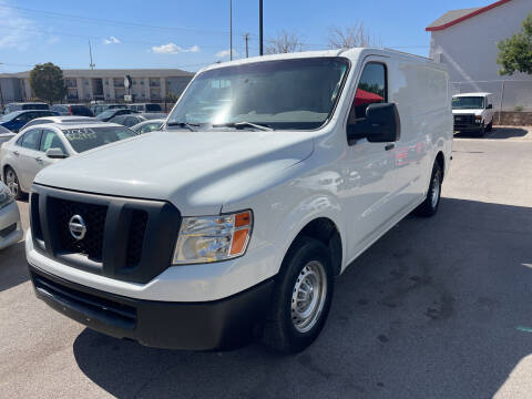
[[[296,304],[294,296],[301,293],[299,288],[304,286],[306,278],[311,276],[308,274],[309,265],[319,268],[318,264],[323,266],[325,272],[325,276],[323,276],[325,278],[321,279],[323,284],[320,285],[325,287],[325,294],[324,288],[316,290],[318,293],[316,294],[316,304],[323,304],[323,306],[318,305],[320,310],[316,310],[316,314],[310,313],[310,315],[315,315],[311,317],[314,324],[309,323],[308,326],[305,326],[304,324],[297,324],[301,319],[295,316],[297,313],[294,311],[297,310],[293,310],[293,303],[294,306]],[[309,296],[311,298],[309,300],[313,303],[315,291],[309,291],[313,293]],[[272,305],[264,326],[263,342],[282,354],[296,354],[307,348],[318,337],[325,325],[332,293],[332,266],[328,248],[314,238],[297,238],[286,254],[276,278]],[[324,298],[323,301],[320,298]],[[305,304],[306,300],[307,298],[304,296],[300,303]],[[304,330],[306,327],[308,327],[308,330]]]

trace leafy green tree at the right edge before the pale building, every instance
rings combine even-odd
[[[522,23],[520,32],[497,44],[497,63],[502,68],[499,74],[523,72],[532,74],[532,12]]]

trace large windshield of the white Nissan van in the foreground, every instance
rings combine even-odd
[[[167,125],[207,129],[246,122],[275,130],[317,129],[332,113],[348,68],[344,58],[311,58],[205,71],[183,94]]]

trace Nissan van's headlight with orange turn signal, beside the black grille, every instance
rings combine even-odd
[[[244,255],[253,228],[252,211],[183,217],[173,265],[212,263]]]

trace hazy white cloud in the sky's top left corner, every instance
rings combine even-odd
[[[35,37],[40,35],[32,31],[35,29],[34,21],[19,16],[3,0],[0,0],[0,21],[2,21],[3,28],[0,35],[0,49],[25,50],[30,43],[34,43]]]

